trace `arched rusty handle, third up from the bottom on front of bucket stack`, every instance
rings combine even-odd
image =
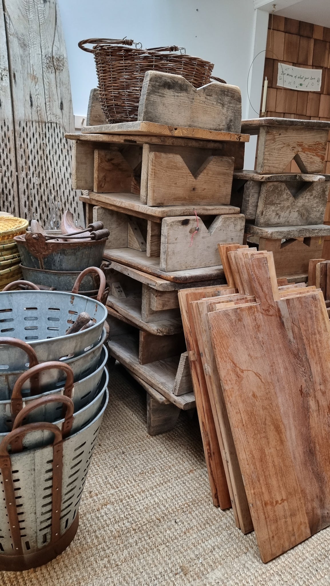
[[[17,415],[23,409],[22,386],[25,383],[25,381],[31,379],[32,377],[39,377],[40,372],[43,372],[43,370],[52,369],[63,370],[63,372],[66,373],[66,381],[63,395],[71,399],[73,390],[73,370],[71,366],[63,362],[57,362],[56,360],[53,360],[52,362],[43,362],[42,364],[36,364],[36,366],[33,366],[29,370],[26,370],[26,372],[23,372],[23,374],[21,374],[21,376],[16,380],[16,383],[14,384],[12,390],[11,397],[12,415]],[[46,396],[45,398],[50,397]]]

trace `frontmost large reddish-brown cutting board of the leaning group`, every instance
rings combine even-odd
[[[254,253],[246,266],[257,303],[208,319],[267,562],[330,524],[330,323],[321,292],[280,299],[270,258]]]

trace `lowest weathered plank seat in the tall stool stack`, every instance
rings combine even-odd
[[[173,394],[175,376],[178,371],[180,356],[158,360],[148,364],[138,362],[138,342],[131,335],[113,336],[108,343],[110,355],[125,368],[144,380],[177,407],[187,410],[196,407],[193,393],[181,396]]]

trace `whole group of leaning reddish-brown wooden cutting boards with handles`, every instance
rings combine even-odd
[[[227,288],[179,302],[211,488],[267,562],[330,524],[330,323],[319,289],[277,281],[273,253],[219,251]]]

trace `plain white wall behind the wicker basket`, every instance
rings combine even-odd
[[[144,47],[179,45],[215,64],[213,73],[241,88],[242,117],[251,116],[247,73],[256,48],[266,48],[268,14],[253,0],[58,0],[69,59],[73,111],[85,115],[97,86],[94,58],[79,49],[85,38],[124,36]],[[257,43],[255,42],[257,38]],[[251,103],[259,110],[264,53],[250,72]],[[251,82],[252,80],[252,82]],[[255,114],[256,115],[256,114]],[[247,149],[249,167],[254,153]],[[252,166],[251,166],[252,165]]]

